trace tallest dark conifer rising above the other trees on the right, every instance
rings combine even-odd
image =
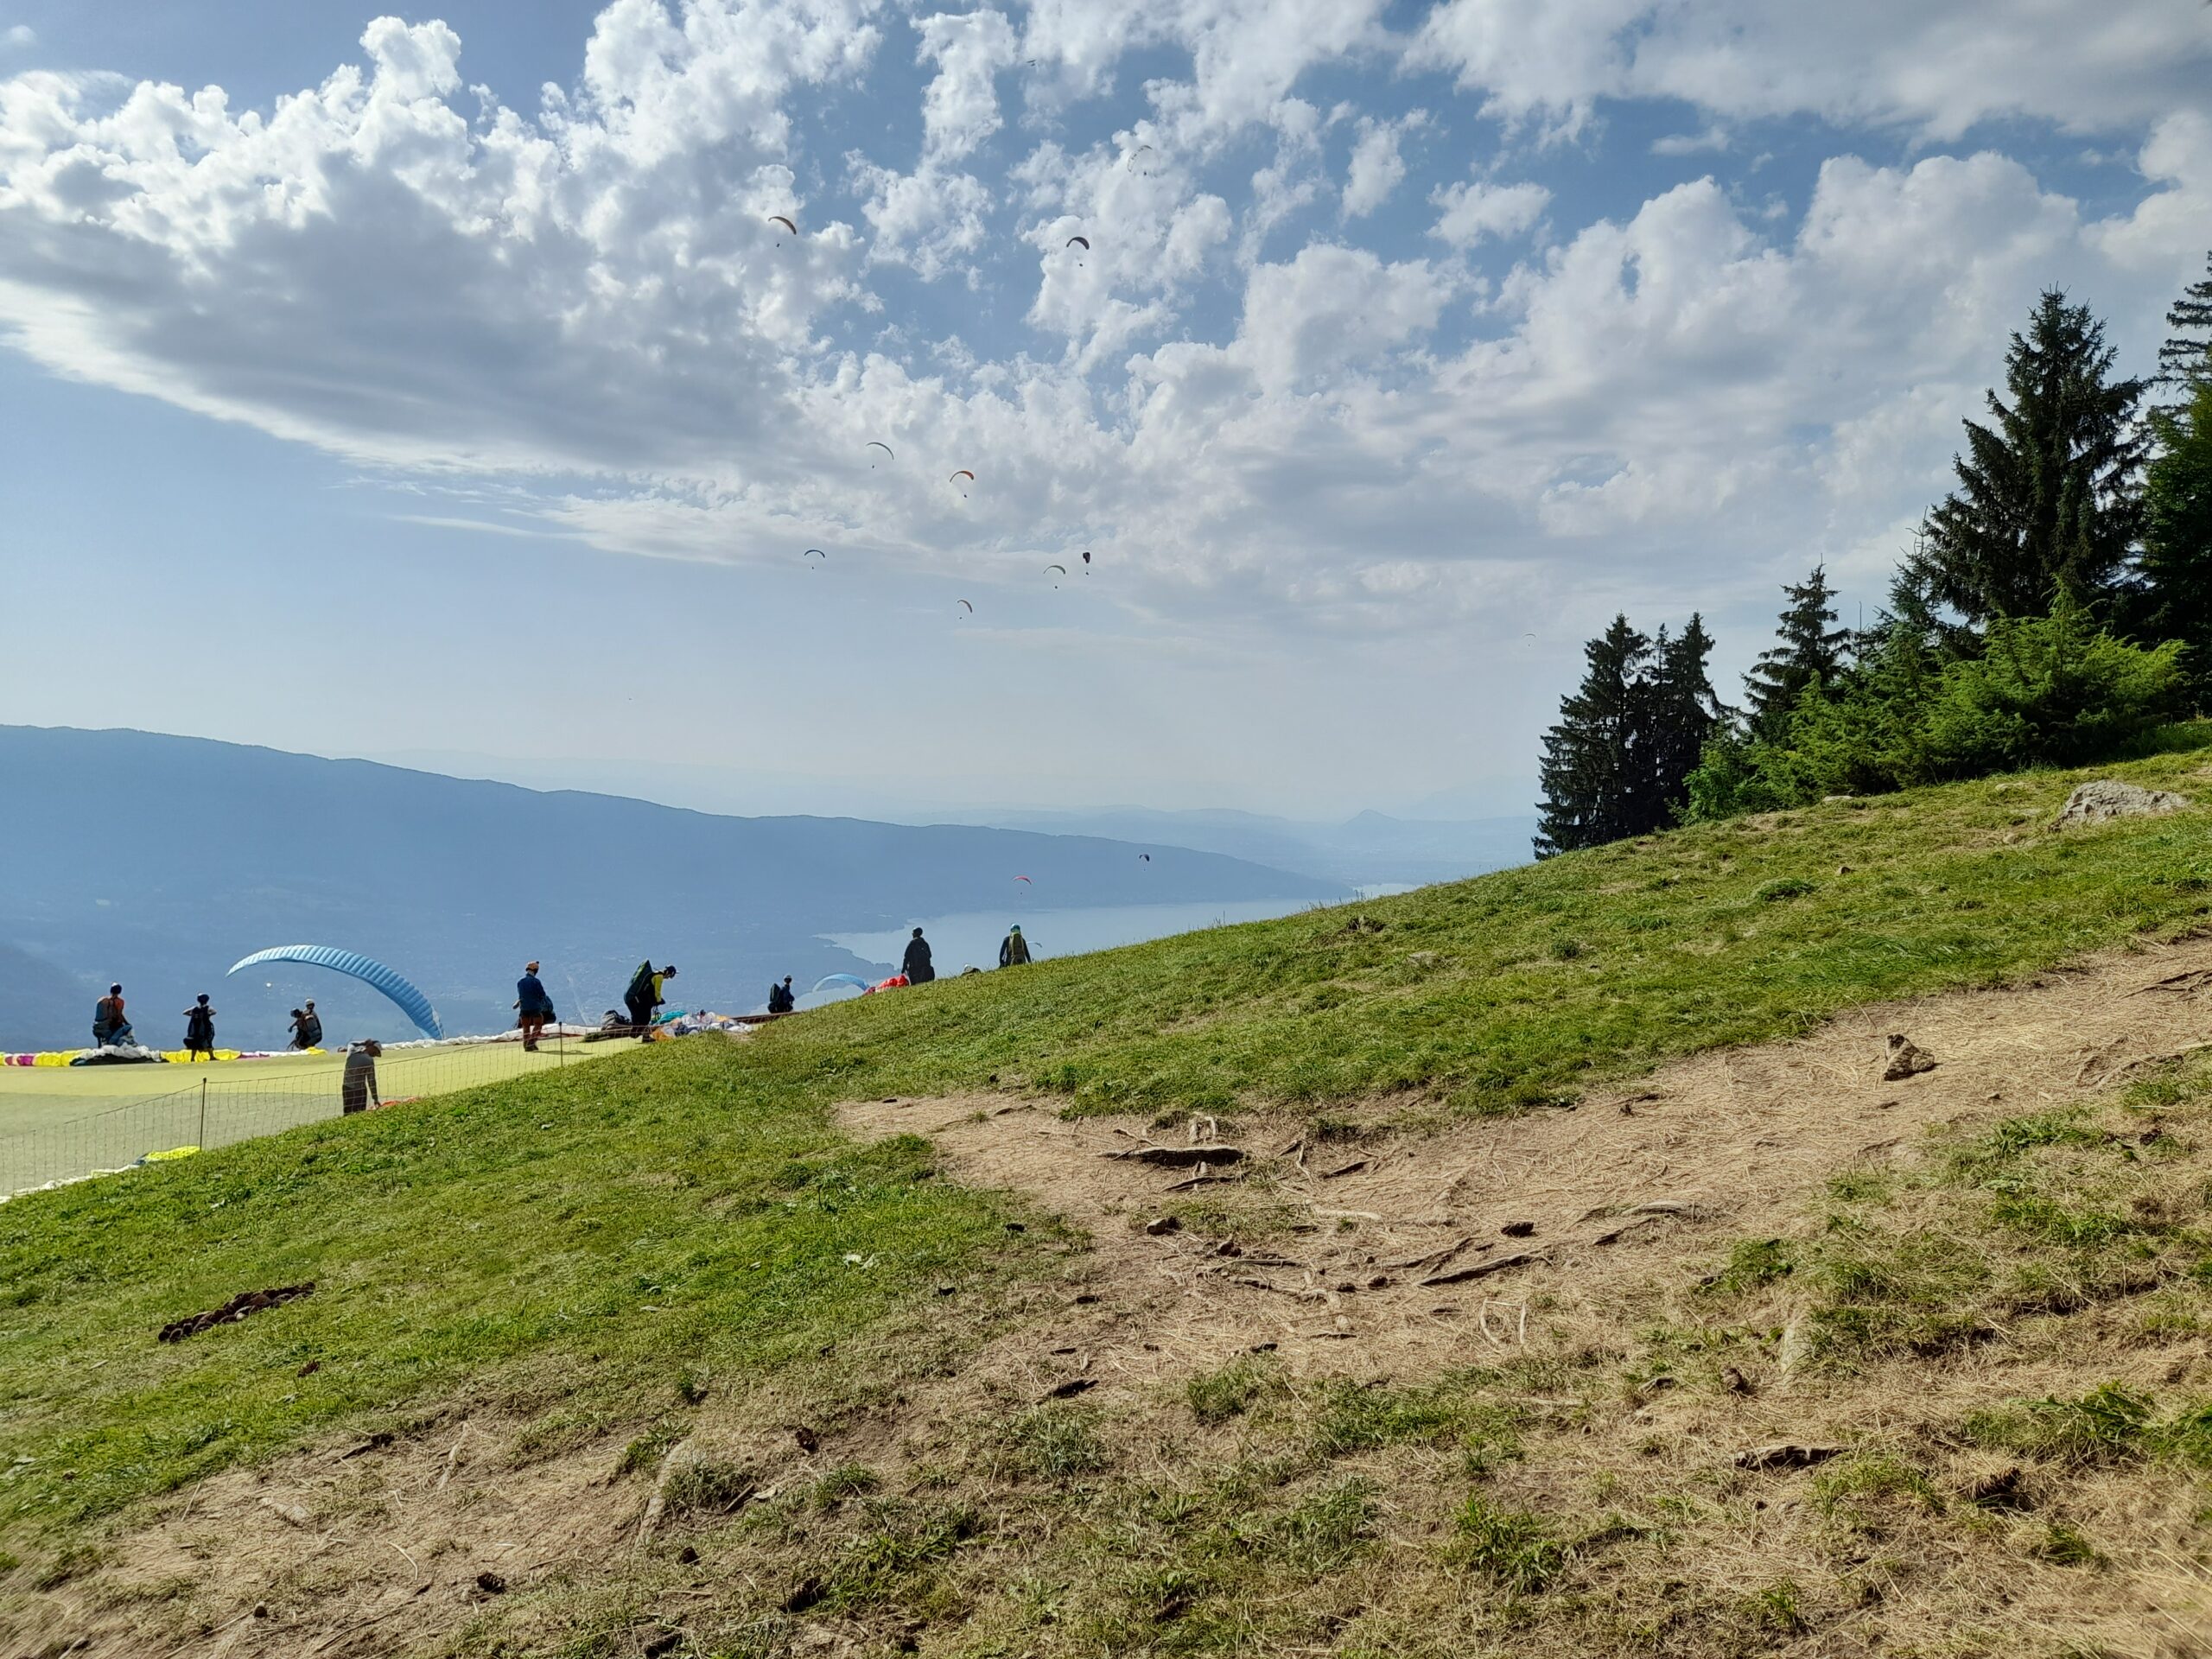
[[[2110,380],[2115,352],[2086,305],[2048,290],[2013,336],[1993,427],[1966,422],[1960,487],[1927,518],[1898,571],[1900,617],[1944,606],[1982,626],[2035,617],[2064,595],[2112,599],[2141,524],[2137,478],[2150,434],[2141,380]]]

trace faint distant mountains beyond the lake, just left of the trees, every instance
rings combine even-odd
[[[1164,841],[1170,847],[1250,858],[1352,887],[1371,883],[1422,887],[1524,865],[1533,856],[1528,841],[1535,836],[1535,816],[1444,821],[1363,812],[1345,823],[1307,823],[1256,812],[1152,812],[1146,807],[960,816],[1009,830]]]

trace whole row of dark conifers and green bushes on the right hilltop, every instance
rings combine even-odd
[[[1785,584],[1774,646],[1721,703],[1703,617],[1617,615],[1544,737],[1546,858],[1670,823],[2084,765],[2212,701],[2212,254],[2150,376],[2117,378],[2086,305],[2048,290],[1955,489],[1871,626],[1827,571]]]

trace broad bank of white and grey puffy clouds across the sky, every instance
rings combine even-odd
[[[0,80],[0,327],[58,374],[495,478],[502,524],[657,557],[834,535],[991,577],[1108,546],[1144,617],[1376,628],[1674,604],[1694,557],[1765,604],[1770,560],[1869,557],[1927,504],[2037,288],[2150,319],[2119,330],[2148,349],[2201,270],[2208,100],[2174,91],[2166,11],[2115,4],[2079,86],[2022,66],[2039,0],[1980,31],[1876,0],[1900,42],[1858,58],[1858,13],[1792,33],[1734,0],[1451,0],[1413,42],[1365,0],[1046,0],[916,20],[905,108],[872,102],[907,24],[869,0],[617,0],[535,108],[392,18],[268,108],[31,71]],[[1418,113],[1323,115],[1305,84],[1387,91],[1400,51],[1597,146],[1597,102],[1646,93],[1922,135],[2008,111],[2132,122],[2141,179],[2088,219],[1995,148],[1838,139],[1781,221],[1723,179],[1595,217],[1500,179],[1509,153],[1429,192],[1422,243]],[[1155,80],[1119,86],[1130,53]],[[852,104],[918,148],[872,157],[821,115]],[[869,469],[872,438],[898,462]]]

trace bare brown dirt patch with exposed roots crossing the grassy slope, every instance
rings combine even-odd
[[[1885,1082],[1891,1033],[1936,1068]],[[1929,1126],[2066,1106],[2205,1040],[2212,940],[2185,940],[2026,989],[1856,1009],[1798,1042],[1697,1055],[1575,1110],[1338,1146],[1248,1119],[1223,1137],[1248,1152],[1245,1175],[1221,1186],[1177,1190],[1188,1168],[1115,1157],[1139,1146],[1128,1124],[1062,1121],[1051,1102],[914,1099],[841,1117],[860,1135],[927,1135],[958,1179],[1024,1192],[1091,1232],[1075,1287],[1086,1301],[1071,1298],[1051,1340],[987,1360],[1006,1385],[1042,1391],[1075,1371],[1141,1385],[1259,1343],[1301,1369],[1418,1374],[1586,1325],[1573,1307],[1648,1276],[1655,1256],[1785,1232],[1825,1177]],[[1232,1243],[1219,1225],[1144,1232],[1194,1192],[1279,1199],[1296,1230],[1232,1230]],[[1528,1321],[1531,1303],[1559,1312]]]

